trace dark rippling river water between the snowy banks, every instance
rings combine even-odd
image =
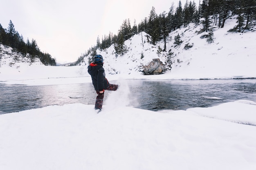
[[[110,82],[117,83],[117,82]],[[146,110],[186,110],[210,107],[239,99],[256,102],[256,79],[215,80],[126,80],[120,93],[129,91],[127,100]],[[104,100],[108,98],[105,93]],[[94,104],[91,83],[48,86],[0,84],[0,114],[72,103]],[[124,97],[119,94],[119,97]],[[104,103],[103,103],[104,104]]]

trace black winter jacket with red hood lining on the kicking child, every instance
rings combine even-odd
[[[105,78],[105,70],[101,65],[91,63],[88,66],[88,73],[92,77],[92,84],[96,91],[103,91],[108,88],[109,82]]]

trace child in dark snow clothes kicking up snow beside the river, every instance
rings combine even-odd
[[[96,97],[95,110],[102,109],[104,90],[116,91],[118,85],[110,84],[105,78],[105,70],[103,66],[103,57],[99,54],[94,55],[94,62],[88,66],[88,73],[92,77],[92,84],[98,96]]]

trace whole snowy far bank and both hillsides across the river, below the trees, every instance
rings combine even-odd
[[[166,52],[161,51],[161,49],[164,49],[163,41],[152,45],[147,40],[148,34],[141,32],[125,41],[128,51],[124,55],[116,55],[113,44],[103,51],[97,50],[97,53],[103,55],[106,73],[118,75],[118,77],[147,79],[255,78],[256,49],[254,44],[256,42],[256,32],[228,32],[235,25],[236,16],[233,16],[226,20],[224,28],[215,27],[213,29],[214,42],[211,44],[206,41],[206,38],[200,38],[205,34],[205,32],[198,33],[202,29],[202,25],[189,24],[187,27],[169,33]],[[178,34],[183,42],[175,46],[174,37]],[[148,38],[150,40],[150,35],[148,35]],[[191,45],[191,48],[184,49],[188,45]],[[169,51],[172,53],[170,58],[171,68],[166,66],[166,71],[162,75],[143,76],[141,72],[143,66],[148,65],[153,59],[159,59],[163,64],[166,64]],[[143,53],[143,58],[141,58],[141,53]],[[78,64],[80,67],[65,67],[65,69],[64,66],[61,68],[44,66],[37,58],[31,64],[28,57],[22,57],[19,53],[13,52],[11,48],[1,45],[0,81],[25,79],[25,77],[89,76],[86,71],[89,57],[90,55],[83,58],[83,61]],[[47,75],[35,73],[34,67],[38,65],[40,65],[39,70]]]

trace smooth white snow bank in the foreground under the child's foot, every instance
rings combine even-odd
[[[256,168],[256,126],[238,124],[255,124],[250,101],[168,113],[103,107],[99,114],[68,104],[0,115],[0,169]]]

